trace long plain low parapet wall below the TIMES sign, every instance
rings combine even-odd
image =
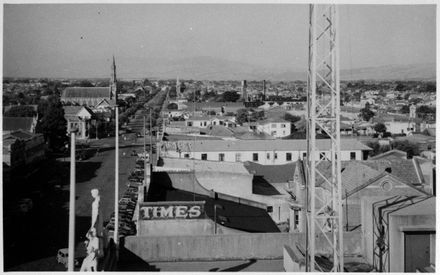
[[[329,236],[330,237],[330,236]],[[344,233],[344,252],[354,256],[362,253],[358,232]],[[203,236],[128,236],[125,248],[146,262],[210,261],[242,259],[281,259],[284,245],[299,243],[305,247],[303,233],[248,233]],[[316,238],[317,253],[330,255],[332,248],[325,236]]]

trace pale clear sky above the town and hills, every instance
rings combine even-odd
[[[341,5],[339,16],[342,69],[435,62],[435,5]],[[4,5],[7,77],[69,77],[69,64],[113,54],[125,66],[202,56],[298,71],[307,45],[303,4]]]

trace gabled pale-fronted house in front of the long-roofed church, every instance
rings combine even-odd
[[[78,139],[86,139],[89,137],[90,127],[92,126],[92,118],[94,113],[86,106],[63,106],[64,118],[67,121],[67,132],[76,128]]]

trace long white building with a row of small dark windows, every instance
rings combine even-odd
[[[330,158],[328,139],[317,140],[316,158]],[[365,160],[371,148],[354,139],[341,140],[341,160]],[[245,162],[262,165],[286,164],[307,155],[305,139],[277,140],[198,140],[165,142],[161,155],[170,158]]]

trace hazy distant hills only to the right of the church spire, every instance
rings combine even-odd
[[[148,65],[147,65],[148,64]],[[150,65],[151,64],[151,65]],[[124,74],[150,76],[159,79],[176,78],[197,80],[306,80],[306,69],[262,68],[241,62],[210,57],[180,60],[131,61],[123,68]],[[147,66],[146,66],[147,65]],[[122,68],[122,64],[121,67]],[[139,75],[140,76],[140,75]],[[341,70],[342,80],[435,80],[435,63],[413,65],[388,65],[380,67]]]

